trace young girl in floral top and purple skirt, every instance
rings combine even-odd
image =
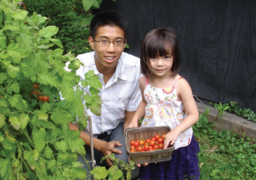
[[[142,43],[140,58],[142,101],[132,122],[145,115],[142,127],[169,126],[164,149],[175,146],[170,161],[141,166],[141,179],[199,179],[200,149],[191,127],[198,120],[198,110],[188,82],[177,74],[179,53],[174,31],[150,31]]]

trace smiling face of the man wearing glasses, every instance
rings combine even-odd
[[[94,41],[96,40],[96,41]],[[92,49],[95,51],[95,64],[99,72],[115,70],[119,58],[125,48],[125,43],[122,46],[115,46],[113,42],[110,42],[108,46],[102,46],[99,44],[100,40],[122,40],[124,39],[124,31],[118,26],[100,26],[97,29],[95,38],[90,36],[89,43]]]

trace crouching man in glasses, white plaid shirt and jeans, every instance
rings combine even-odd
[[[94,156],[97,165],[102,156],[115,153],[115,157],[128,163],[125,150],[124,128],[128,125],[137,127],[137,122],[131,122],[141,93],[138,85],[140,77],[140,60],[124,53],[127,40],[127,21],[114,11],[103,11],[95,15],[90,23],[89,43],[93,52],[80,54],[77,58],[84,64],[77,71],[84,79],[84,74],[93,70],[102,83],[100,92],[102,106],[101,116],[91,113]],[[84,102],[85,103],[85,102]],[[69,123],[71,130],[78,130],[78,126]],[[82,131],[80,137],[86,143],[86,159],[91,161],[89,127]],[[89,172],[83,158],[80,162]],[[107,159],[108,166],[112,166],[111,159]],[[91,164],[90,164],[91,165]],[[138,176],[139,169],[132,171],[133,178]]]

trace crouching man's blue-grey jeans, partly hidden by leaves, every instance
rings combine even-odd
[[[101,139],[103,141],[119,141],[123,146],[119,147],[116,146],[116,149],[119,149],[120,151],[122,151],[122,154],[115,154],[115,158],[121,159],[123,160],[125,163],[129,163],[128,162],[128,155],[126,153],[126,149],[125,149],[125,143],[124,143],[124,123],[120,123],[115,129],[113,129],[111,131],[111,133],[109,135],[107,135],[105,138]],[[92,162],[91,161],[91,149],[90,146],[85,145],[85,150],[86,150],[86,155],[85,158],[87,161],[89,161],[89,165],[90,168],[92,170]],[[97,149],[94,149],[94,159],[96,161],[96,165],[97,166],[105,166],[107,169],[109,168],[108,164],[106,163],[106,161],[102,161],[102,163],[100,163],[101,158],[104,155],[102,154],[101,151],[98,151]],[[80,161],[82,164],[84,164],[83,168],[87,170],[87,175],[89,175],[89,168],[87,166],[87,164],[85,163],[84,159],[78,154],[78,161]],[[126,170],[123,170],[124,173],[124,178],[126,178]],[[135,169],[132,170],[132,178],[137,177],[140,174],[140,168],[137,167],[135,165]],[[91,178],[90,178],[91,179]]]

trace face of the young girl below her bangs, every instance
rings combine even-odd
[[[172,54],[149,58],[149,62],[150,62],[149,69],[152,72],[152,75],[155,75],[158,77],[172,75],[172,71],[171,71],[171,68],[173,65]]]

